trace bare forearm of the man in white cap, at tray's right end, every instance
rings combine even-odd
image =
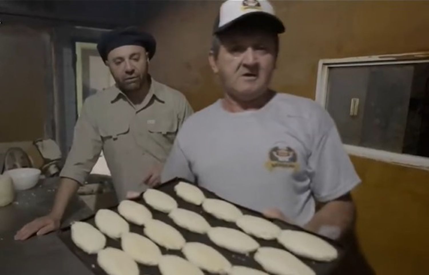
[[[338,239],[353,226],[354,218],[355,209],[352,200],[334,200],[317,211],[304,228]]]

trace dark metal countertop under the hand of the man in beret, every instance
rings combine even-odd
[[[0,207],[0,274],[92,275],[57,233],[33,236],[26,241],[13,239],[25,223],[50,211],[57,183],[57,178],[41,180],[30,190],[18,191],[12,204]],[[67,208],[63,225],[91,214],[91,209],[76,196]]]

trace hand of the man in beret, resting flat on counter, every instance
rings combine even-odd
[[[46,215],[36,218],[34,221],[24,225],[24,227],[15,234],[15,240],[22,241],[28,239],[34,233],[36,233],[36,235],[44,235],[58,228],[60,228],[60,219],[51,215]]]

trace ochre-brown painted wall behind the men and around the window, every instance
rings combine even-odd
[[[273,88],[314,99],[324,58],[429,50],[429,1],[274,1],[287,26]],[[221,97],[207,62],[220,2],[177,1],[145,29],[157,38],[155,78],[199,110]],[[429,274],[429,172],[352,158],[360,246],[378,275]]]

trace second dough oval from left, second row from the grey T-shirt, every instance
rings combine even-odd
[[[178,226],[195,233],[205,234],[211,228],[202,215],[187,209],[176,208],[168,216]]]

